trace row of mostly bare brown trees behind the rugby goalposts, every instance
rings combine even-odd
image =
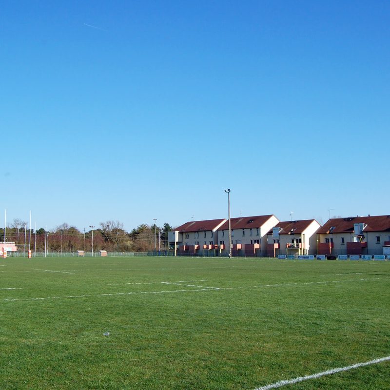
[[[40,228],[35,232],[31,230],[31,249],[43,252],[46,248],[49,252],[75,252],[106,250],[108,252],[147,252],[155,249],[165,250],[168,242],[168,232],[172,230],[169,223],[162,227],[155,225],[139,225],[131,232],[123,229],[123,223],[119,221],[101,222],[98,228],[80,232],[76,227],[67,223],[57,226],[51,231]],[[27,223],[14,219],[6,228],[5,239],[7,242],[15,242],[18,251],[23,252],[24,244],[29,243],[30,230]],[[93,237],[93,242],[92,242]],[[0,241],[4,239],[4,229],[0,229]],[[28,248],[26,247],[26,250]]]

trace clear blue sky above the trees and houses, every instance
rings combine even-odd
[[[389,1],[3,1],[7,221],[177,226],[227,217],[225,188],[232,216],[390,214],[389,20]]]

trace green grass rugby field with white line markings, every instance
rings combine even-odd
[[[389,356],[389,309],[383,261],[8,258],[0,389],[254,390]],[[284,388],[390,389],[390,361]]]

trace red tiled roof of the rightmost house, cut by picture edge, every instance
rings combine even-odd
[[[364,232],[390,231],[390,215],[377,215],[331,218],[318,230],[317,234],[328,234],[331,228],[334,228],[331,233],[353,233],[353,224],[355,223],[367,224]]]

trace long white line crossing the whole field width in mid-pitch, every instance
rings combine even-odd
[[[329,280],[324,282],[305,282],[305,283],[286,283],[286,284],[263,284],[258,286],[241,286],[241,287],[220,287],[220,288],[202,288],[194,290],[162,290],[162,291],[131,291],[131,292],[112,292],[106,294],[96,295],[69,295],[69,296],[49,296],[43,298],[15,298],[15,299],[1,299],[1,301],[38,301],[44,299],[63,299],[63,298],[83,298],[83,297],[96,297],[96,296],[109,296],[109,295],[137,295],[137,294],[162,294],[169,292],[199,292],[199,291],[222,291],[222,290],[240,290],[240,289],[255,289],[262,287],[284,287],[284,286],[303,286],[309,284],[326,284],[326,283],[342,283],[342,282],[361,282],[365,280],[388,280],[389,277],[377,277],[368,279],[349,279],[349,280]]]

